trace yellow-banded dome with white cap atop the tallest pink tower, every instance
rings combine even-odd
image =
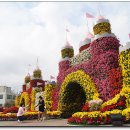
[[[111,33],[111,25],[108,19],[105,19],[103,16],[99,15],[96,21],[96,25],[93,27],[94,35]]]

